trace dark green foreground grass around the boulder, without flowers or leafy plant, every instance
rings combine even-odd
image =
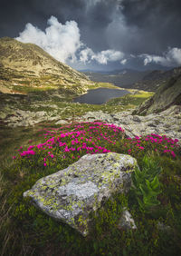
[[[47,127],[38,129],[19,129],[16,133],[7,131],[10,135],[12,148],[5,148],[5,152],[17,155],[20,144],[24,150],[31,144],[44,142],[44,136],[38,136],[46,131],[57,131]],[[43,126],[41,128],[43,128]],[[58,127],[57,127],[58,128]],[[89,124],[84,125],[85,131]],[[61,131],[75,130],[75,124],[65,125]],[[101,127],[101,133],[108,133],[106,126]],[[49,133],[47,139],[51,137]],[[2,255],[179,255],[181,252],[181,170],[180,148],[174,148],[176,157],[163,153],[162,145],[157,146],[157,152],[152,143],[141,139],[140,144],[145,147],[143,152],[135,143],[127,140],[122,133],[115,134],[109,130],[109,135],[114,135],[116,144],[100,140],[100,145],[117,153],[128,153],[136,157],[143,170],[143,156],[148,155],[148,161],[157,162],[162,169],[159,174],[161,193],[157,196],[159,205],[152,212],[144,212],[138,206],[135,193],[130,191],[127,196],[115,194],[111,200],[96,214],[92,213],[94,224],[87,238],[81,237],[77,231],[68,225],[56,222],[52,218],[37,210],[28,199],[23,198],[23,192],[30,189],[33,183],[44,175],[57,172],[67,167],[71,162],[72,153],[66,159],[60,158],[58,162],[50,162],[47,168],[41,166],[43,155],[40,154],[35,162],[17,162],[9,159],[4,162],[0,177],[1,196],[1,229],[0,241]],[[89,133],[85,135],[85,138]],[[91,134],[92,140],[97,141],[96,134]],[[16,138],[16,139],[15,139]],[[33,141],[28,141],[32,139]],[[65,139],[71,143],[71,137]],[[156,148],[155,146],[155,148]],[[163,144],[164,148],[164,144]],[[56,151],[56,147],[54,148]],[[58,153],[61,155],[61,153]],[[5,157],[4,157],[5,159]],[[40,161],[39,161],[40,160]],[[26,164],[27,163],[27,164]],[[154,166],[154,165],[153,165]],[[155,168],[155,167],[153,167]],[[152,171],[151,171],[152,172]],[[154,172],[153,172],[154,173]],[[151,174],[151,173],[150,173]],[[148,174],[147,174],[148,175]],[[118,229],[120,213],[124,206],[129,207],[138,230],[124,231]],[[158,229],[159,222],[171,227],[171,232]]]

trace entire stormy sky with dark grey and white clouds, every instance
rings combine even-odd
[[[180,0],[1,0],[0,37],[82,70],[181,65]]]

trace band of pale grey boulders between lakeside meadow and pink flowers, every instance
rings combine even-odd
[[[79,103],[78,103],[79,104]],[[74,103],[76,107],[77,103]],[[67,105],[66,109],[69,106]],[[66,119],[62,118],[62,112],[56,105],[52,105],[52,111],[31,112],[13,109],[11,115],[4,116],[2,121],[10,127],[33,126],[35,123],[53,122],[55,125],[62,125],[71,122],[102,121],[105,123],[115,123],[121,126],[129,137],[157,133],[166,134],[168,137],[181,139],[181,106],[174,105],[160,113],[149,113],[146,116],[132,115],[132,111],[120,113],[88,112],[84,115],[73,117],[70,115]]]

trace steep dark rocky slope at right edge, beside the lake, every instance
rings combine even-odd
[[[178,71],[178,69],[176,69]],[[176,71],[172,71],[176,74]],[[156,94],[141,103],[134,114],[159,113],[172,105],[181,105],[181,74],[170,78],[157,89]]]

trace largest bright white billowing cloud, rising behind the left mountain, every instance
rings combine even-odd
[[[76,22],[68,21],[65,25],[51,16],[45,32],[31,25],[25,25],[24,31],[16,39],[23,43],[37,44],[55,59],[65,63],[76,59],[75,53],[81,47],[80,30]]]

